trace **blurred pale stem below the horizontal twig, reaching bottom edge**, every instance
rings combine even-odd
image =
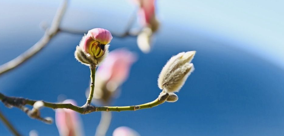
[[[106,132],[109,129],[111,120],[112,120],[111,112],[101,112],[101,120],[96,129],[95,136],[105,136]]]

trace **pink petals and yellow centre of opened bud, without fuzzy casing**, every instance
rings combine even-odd
[[[112,40],[112,34],[103,28],[94,28],[88,31],[84,37],[83,48],[86,53],[95,58],[102,57],[105,53],[105,45]]]

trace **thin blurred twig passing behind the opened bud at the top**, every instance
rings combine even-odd
[[[125,28],[125,31],[124,33],[122,34],[118,34],[118,33],[114,33],[114,32],[111,32],[112,33],[112,36],[113,37],[117,37],[117,38],[124,38],[124,37],[127,37],[127,36],[136,36],[138,35],[138,33],[140,32],[131,32],[131,28],[133,26],[133,24],[135,23],[135,19],[136,19],[136,11],[133,12],[133,14],[131,15],[129,21],[127,22],[127,25],[126,25],[126,28]],[[46,27],[45,27],[46,28]],[[44,29],[45,29],[44,28]],[[76,30],[76,29],[73,29],[73,28],[63,28],[63,27],[60,27],[59,28],[59,31],[60,32],[64,32],[64,33],[70,33],[70,34],[79,34],[79,35],[83,35],[83,34],[87,34],[88,33],[88,30]]]

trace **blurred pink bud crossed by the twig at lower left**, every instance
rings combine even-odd
[[[74,100],[67,99],[62,103],[76,104]],[[82,136],[82,123],[77,112],[71,109],[58,108],[55,110],[55,123],[60,136]]]

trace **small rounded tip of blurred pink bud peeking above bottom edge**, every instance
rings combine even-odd
[[[138,132],[136,132],[132,128],[122,126],[116,128],[113,131],[112,136],[140,136],[140,134],[138,134]]]

